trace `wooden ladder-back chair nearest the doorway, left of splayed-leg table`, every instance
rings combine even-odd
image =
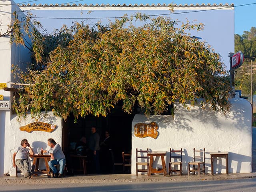
[[[141,168],[138,169],[138,166],[141,166]],[[138,176],[138,172],[148,172],[148,148],[147,150],[138,150],[136,148],[136,176]]]

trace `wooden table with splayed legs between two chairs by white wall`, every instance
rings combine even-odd
[[[152,151],[148,153],[148,156],[150,157],[149,160],[149,167],[148,167],[148,177],[150,177],[150,175],[152,173],[163,173],[164,176],[166,176],[166,166],[165,166],[165,160],[164,160],[164,156],[166,155],[165,151]],[[162,161],[162,170],[157,170],[156,168],[153,168],[153,162],[154,162],[154,156],[159,156],[161,158]]]

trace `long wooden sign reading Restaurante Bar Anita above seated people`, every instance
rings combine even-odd
[[[45,131],[52,132],[56,128],[56,125],[43,122],[33,122],[28,125],[20,127],[21,131],[32,132],[32,131]]]

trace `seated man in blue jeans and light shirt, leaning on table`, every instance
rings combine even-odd
[[[66,158],[65,155],[60,147],[59,144],[57,144],[54,139],[50,138],[48,139],[48,146],[51,148],[48,153],[51,156],[51,159],[48,162],[49,167],[51,168],[53,172],[53,177],[64,177],[63,172],[66,164]],[[46,151],[44,151],[46,152]],[[54,165],[60,165],[60,173],[57,172],[57,169]]]

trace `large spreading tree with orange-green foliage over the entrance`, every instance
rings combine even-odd
[[[147,22],[136,27],[137,20]],[[10,28],[14,24],[22,28],[18,19]],[[14,97],[13,108],[20,116],[52,110],[66,119],[70,113],[106,116],[118,102],[127,113],[136,105],[145,114],[161,114],[174,102],[188,107],[204,98],[202,108],[210,105],[225,114],[230,86],[224,64],[209,45],[188,33],[202,28],[136,14],[108,26],[75,23],[53,35],[26,30],[36,31],[30,33],[35,62],[17,74],[27,86]],[[22,34],[13,37],[12,42],[26,44]]]

